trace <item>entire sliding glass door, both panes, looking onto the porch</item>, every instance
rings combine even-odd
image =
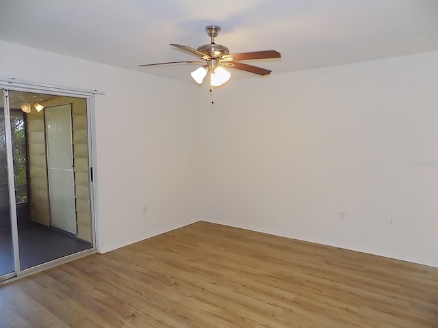
[[[0,91],[1,280],[95,247],[89,101]]]

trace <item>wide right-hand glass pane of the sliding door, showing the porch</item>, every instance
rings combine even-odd
[[[18,91],[9,99],[25,270],[93,247],[87,105],[83,98]]]

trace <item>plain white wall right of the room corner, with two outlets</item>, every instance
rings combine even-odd
[[[200,109],[205,220],[438,267],[438,52],[231,80]]]

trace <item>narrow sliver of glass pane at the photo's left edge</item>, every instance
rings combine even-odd
[[[11,210],[8,182],[8,150],[6,145],[5,102],[0,90],[0,281],[2,276],[14,272]]]

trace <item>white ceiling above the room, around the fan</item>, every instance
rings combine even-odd
[[[162,77],[191,81],[193,60],[169,43],[216,43],[272,74],[438,50],[438,0],[1,0],[0,40]],[[252,74],[231,70],[232,79]]]

